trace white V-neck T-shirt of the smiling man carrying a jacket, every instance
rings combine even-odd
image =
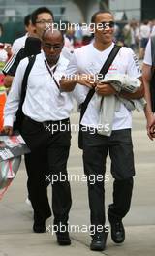
[[[67,68],[67,75],[73,74],[98,74],[109,56],[109,52],[114,47],[112,43],[109,48],[99,51],[94,48],[93,44],[89,44],[75,50],[71,62]],[[140,66],[138,59],[131,48],[122,47],[115,57],[112,65],[109,67],[108,74],[128,74],[133,78],[140,78]],[[85,100],[89,88],[83,85],[76,85],[74,96],[78,104]],[[96,106],[95,97],[91,99],[86,112],[81,120],[81,124],[90,127],[99,125],[99,112]],[[119,111],[114,114],[112,130],[120,130],[132,127],[131,112],[126,109],[124,104],[120,104]]]

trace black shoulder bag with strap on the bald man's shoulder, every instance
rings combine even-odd
[[[25,96],[26,96],[27,80],[28,80],[28,76],[30,74],[30,71],[33,67],[33,64],[35,62],[36,55],[30,56],[30,57],[28,57],[28,59],[29,59],[29,62],[28,62],[28,65],[26,67],[24,77],[23,77],[23,80],[22,80],[22,84],[21,84],[21,96],[20,96],[20,102],[19,102],[19,105],[18,105],[18,110],[16,112],[16,121],[14,122],[14,130],[18,130],[19,132],[21,130],[21,125],[22,125],[23,118],[24,118],[24,113],[22,112],[22,105],[24,103]]]

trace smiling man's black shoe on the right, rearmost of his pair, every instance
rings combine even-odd
[[[121,243],[125,240],[125,230],[122,221],[109,221],[111,227],[111,239],[115,243]]]

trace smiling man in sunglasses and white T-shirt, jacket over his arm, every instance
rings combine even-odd
[[[109,52],[114,47],[112,42],[114,22],[113,16],[109,12],[102,11],[94,14],[91,22],[95,23],[94,42],[75,50],[66,70],[66,78],[62,78],[60,86],[65,91],[72,91],[75,88],[74,94],[79,105],[83,103],[90,89],[95,86],[96,93],[90,100],[80,124],[82,125],[83,136],[84,173],[88,180],[91,225],[93,229],[95,227],[96,231],[90,249],[104,250],[107,240],[104,180],[108,152],[111,158],[111,174],[114,178],[113,203],[109,205],[108,215],[111,238],[116,243],[125,240],[122,218],[130,209],[135,168],[131,138],[132,116],[124,104],[120,103],[119,109],[114,112],[111,135],[107,137],[97,133],[98,125],[100,125],[100,108],[96,106],[96,97],[98,95],[103,96],[103,100],[110,95],[117,97],[117,92],[110,84],[92,80],[92,75],[100,72]],[[122,47],[119,50],[109,67],[108,75],[110,74],[141,77],[138,60],[131,48]],[[77,83],[79,85],[76,85]],[[126,99],[139,99],[142,96],[142,83],[140,89],[135,93],[124,91],[119,93],[119,97]],[[93,184],[90,179],[91,176],[95,176]]]

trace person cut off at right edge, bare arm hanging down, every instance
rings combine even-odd
[[[151,46],[151,44],[154,44],[154,46]],[[152,102],[151,98],[153,95],[151,95],[151,91],[150,91],[151,79],[152,79],[152,76],[155,76],[154,75],[155,58],[152,59],[152,56],[154,56],[154,53],[152,54],[153,48],[155,48],[155,36],[151,37],[147,43],[144,59],[143,59],[143,65],[142,65],[144,96],[147,102],[144,112],[147,120],[147,127],[146,127],[147,135],[150,140],[153,140],[155,138],[155,133],[154,133],[155,115],[154,115],[154,110],[152,110],[152,104],[151,104]]]

